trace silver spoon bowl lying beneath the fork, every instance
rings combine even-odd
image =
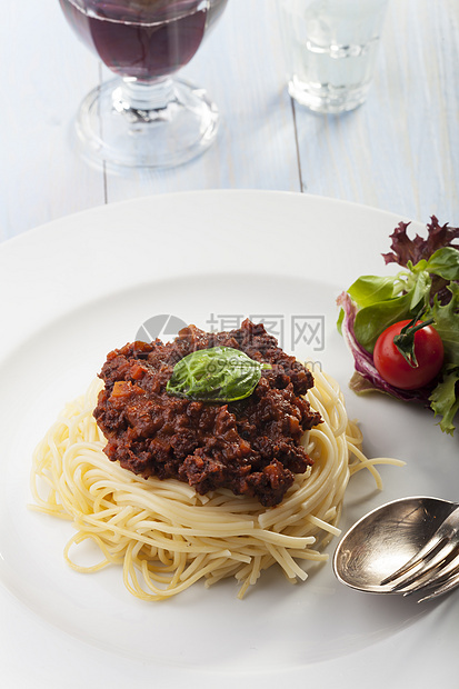
[[[338,543],[333,556],[338,580],[372,593],[407,595],[418,590],[412,583],[395,583],[393,575],[419,553],[457,507],[439,498],[412,497],[372,510]],[[452,580],[447,583],[446,590],[450,590]]]

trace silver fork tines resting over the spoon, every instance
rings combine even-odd
[[[440,596],[459,585],[459,507],[408,562],[381,581],[407,596],[422,589],[433,591],[421,600]]]

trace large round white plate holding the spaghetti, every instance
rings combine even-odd
[[[153,316],[203,328],[212,318],[276,317],[285,348],[312,357],[346,390],[352,360],[336,331],[335,299],[359,274],[388,270],[380,253],[399,220],[300,194],[190,192],[94,209],[0,247],[3,686],[325,689],[359,686],[359,677],[372,687],[450,678],[459,596],[417,605],[362,595],[327,565],[295,587],[269,571],[243,601],[228,581],[148,605],[124,590],[118,568],[67,568],[71,528],[27,508],[36,442],[107,352]],[[315,328],[319,339],[307,342]],[[360,472],[343,528],[397,497],[458,499],[458,437],[445,437],[428,411],[382,396],[348,391],[347,401],[367,453],[407,466],[381,469],[382,493]]]

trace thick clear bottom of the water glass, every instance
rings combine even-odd
[[[329,83],[306,83],[293,77],[288,84],[289,93],[301,106],[315,112],[339,114],[355,110],[367,100],[370,83],[357,88],[333,87]]]

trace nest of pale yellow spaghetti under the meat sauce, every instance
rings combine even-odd
[[[381,488],[375,465],[402,463],[365,457],[338,383],[315,371],[307,397],[323,422],[303,437],[313,466],[296,476],[281,505],[263,508],[227,489],[201,496],[181,481],[143,479],[107,459],[106,439],[92,416],[100,386],[94,381],[86,396],[69,403],[37,447],[33,508],[72,522],[76,533],[64,548],[70,567],[92,572],[122,565],[126,587],[143,600],[170,598],[200,579],[210,586],[227,577],[239,581],[242,598],[273,565],[290,581],[305,580],[303,566],[327,560],[322,549],[339,535],[352,473],[367,468]],[[90,567],[73,558],[74,546],[87,539],[101,552]]]

